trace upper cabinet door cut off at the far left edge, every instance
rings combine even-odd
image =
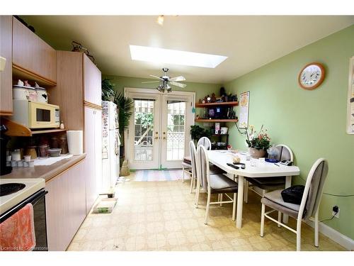
[[[0,72],[0,115],[12,114],[12,18],[0,16],[0,56],[6,59]]]

